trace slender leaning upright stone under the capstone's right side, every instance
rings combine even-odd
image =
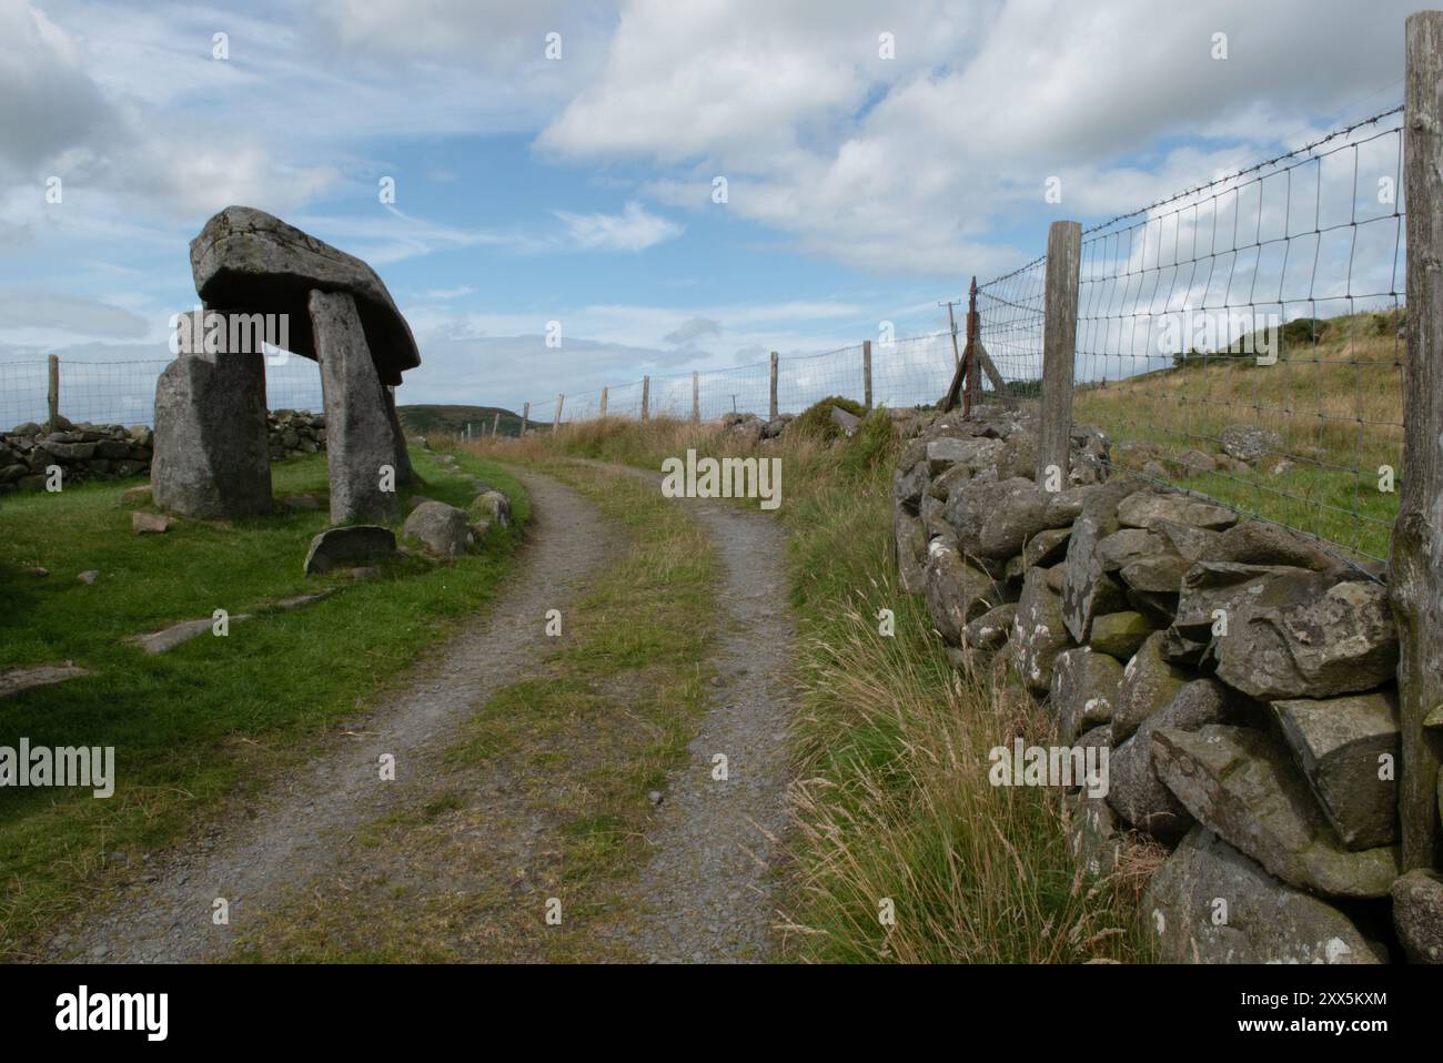
[[[355,299],[343,291],[312,291],[309,310],[326,404],[330,522],[395,521],[395,436]]]

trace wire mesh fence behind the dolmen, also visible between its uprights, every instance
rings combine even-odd
[[[91,424],[152,424],[156,381],[173,359],[78,362],[59,359],[59,411]],[[49,417],[49,361],[0,362],[0,430]],[[271,355],[266,363],[268,410],[323,408],[320,366],[297,355]]]

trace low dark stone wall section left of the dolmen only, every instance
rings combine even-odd
[[[150,428],[62,418],[55,431],[27,421],[0,436],[0,492],[43,490],[52,466],[62,486],[139,476],[150,467]]]

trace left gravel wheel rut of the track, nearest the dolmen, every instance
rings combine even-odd
[[[429,766],[456,727],[492,691],[522,678],[545,652],[545,610],[564,606],[613,545],[600,513],[550,477],[517,473],[532,524],[517,571],[492,607],[429,659],[408,688],[374,710],[299,776],[277,780],[209,837],[167,854],[137,887],[89,926],[58,935],[51,959],[189,962],[224,956],[235,935],[284,887],[333,864],[356,831],[427,785]],[[395,756],[395,782],[378,760]],[[216,926],[216,897],[229,925]]]

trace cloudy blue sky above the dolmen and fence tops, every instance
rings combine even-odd
[[[0,391],[169,358],[231,203],[378,271],[400,402],[928,333],[1052,221],[1398,104],[1416,6],[0,0]]]

